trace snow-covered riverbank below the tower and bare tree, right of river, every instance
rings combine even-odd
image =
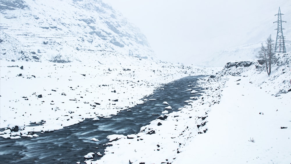
[[[200,80],[207,90],[198,100],[86,163],[290,163],[291,54],[278,55],[272,70],[228,63]]]

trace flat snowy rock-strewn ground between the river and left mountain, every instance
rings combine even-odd
[[[28,132],[54,131],[86,118],[111,117],[143,103],[141,99],[161,84],[213,74],[207,68],[112,52],[91,52],[83,59],[65,64],[1,60],[0,128],[6,130],[0,136],[26,137]]]

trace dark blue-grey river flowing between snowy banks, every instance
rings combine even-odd
[[[39,137],[4,139],[0,138],[0,163],[76,163],[85,161],[84,155],[89,152],[100,152],[104,155],[106,138],[112,134],[139,133],[142,126],[159,117],[168,105],[173,110],[187,105],[185,100],[191,95],[187,89],[201,92],[202,88],[196,88],[196,81],[203,76],[189,76],[169,83],[155,90],[154,94],[145,97],[156,99],[146,101],[144,104],[130,108],[131,111],[121,111],[110,119],[100,118],[98,121],[86,119],[84,122],[75,124],[64,129],[44,134],[36,133]],[[192,85],[192,86],[189,86]],[[195,87],[195,88],[193,88]],[[95,137],[100,141],[90,140]],[[95,155],[94,160],[102,158]]]

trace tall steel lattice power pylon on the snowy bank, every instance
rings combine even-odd
[[[274,23],[278,23],[278,28],[275,29],[275,30],[277,30],[275,52],[286,53],[285,37],[283,36],[283,30],[285,30],[285,29],[282,28],[282,22],[285,22],[285,21],[281,20],[281,15],[284,15],[284,14],[281,14],[280,7],[279,7],[279,12],[276,15],[278,15],[278,20]]]

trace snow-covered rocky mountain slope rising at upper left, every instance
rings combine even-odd
[[[1,59],[65,63],[83,61],[92,51],[155,58],[139,28],[101,0],[1,0],[0,5]]]

